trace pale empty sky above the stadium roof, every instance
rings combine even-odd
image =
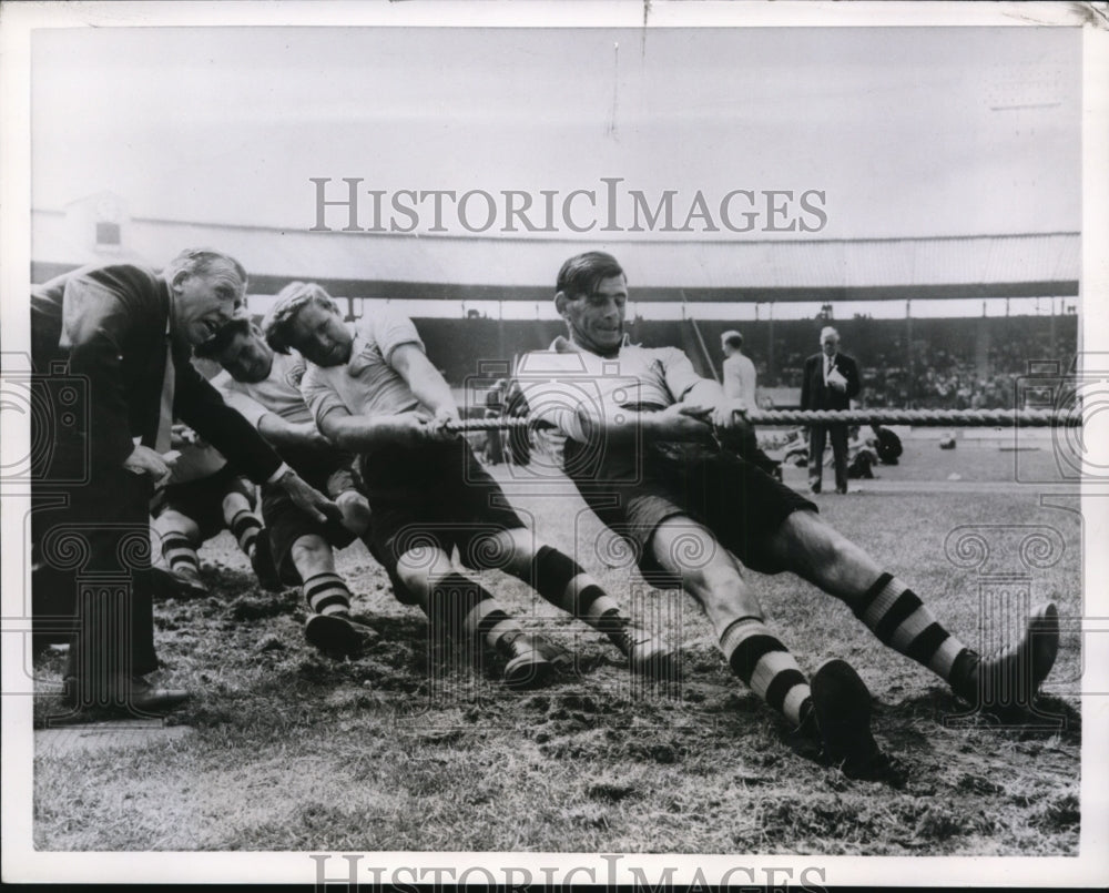
[[[306,230],[311,176],[620,176],[686,202],[821,190],[822,239],[1080,225],[1076,29],[131,28],[32,49],[35,207],[110,190],[135,216]]]

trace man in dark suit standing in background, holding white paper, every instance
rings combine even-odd
[[[801,383],[802,409],[849,409],[858,394],[858,366],[840,353],[840,333],[832,326],[821,329],[821,353],[805,361]],[[824,442],[832,440],[835,460],[835,491],[847,493],[847,426],[811,425],[808,427],[808,487],[821,491],[824,477]]]

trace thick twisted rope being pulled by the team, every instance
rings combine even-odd
[[[945,428],[1075,428],[1082,424],[1081,412],[1050,409],[751,409],[752,425],[913,425]],[[529,418],[469,418],[452,430],[511,430],[532,423]]]

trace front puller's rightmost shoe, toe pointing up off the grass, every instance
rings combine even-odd
[[[965,701],[1008,717],[1027,711],[1059,653],[1059,610],[1055,602],[1028,617],[1019,645],[980,657],[967,650],[966,666],[953,674],[952,690]]]

